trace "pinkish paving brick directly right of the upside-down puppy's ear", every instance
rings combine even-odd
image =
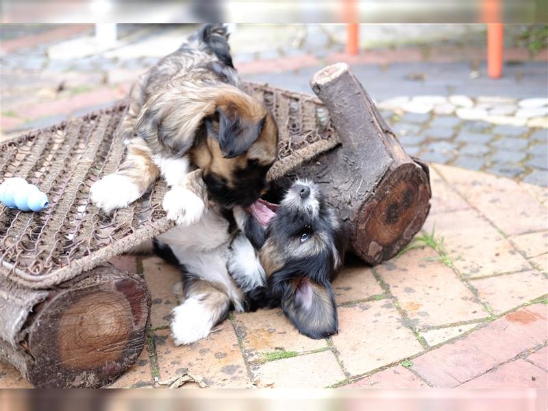
[[[340,271],[333,284],[333,292],[337,303],[358,301],[382,295],[384,293],[377,279],[373,275],[371,267],[366,266],[357,258],[346,261],[344,268]]]

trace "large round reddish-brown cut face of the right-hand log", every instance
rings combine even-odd
[[[429,211],[429,182],[423,168],[399,166],[358,212],[351,245],[369,264],[395,256],[421,229]]]

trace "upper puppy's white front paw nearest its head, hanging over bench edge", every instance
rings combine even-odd
[[[167,218],[178,225],[192,225],[201,219],[206,204],[188,188],[176,186],[164,196],[162,203],[167,212]]]

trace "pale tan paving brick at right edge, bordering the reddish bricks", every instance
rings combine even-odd
[[[495,314],[512,310],[548,292],[547,279],[538,271],[475,279],[470,284],[477,289],[479,299],[488,303]]]

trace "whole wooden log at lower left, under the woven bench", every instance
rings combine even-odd
[[[0,360],[38,387],[103,386],[142,351],[149,308],[144,280],[110,264],[53,290],[5,281]]]

